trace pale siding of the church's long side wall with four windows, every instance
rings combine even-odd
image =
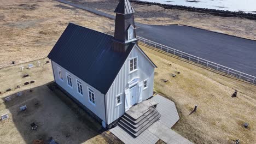
[[[97,115],[98,117],[100,117],[102,119],[102,121],[106,122],[105,107],[104,107],[104,94],[102,94],[100,91],[98,91],[94,87],[88,85],[88,83],[82,81],[77,76],[73,75],[72,73],[69,73],[69,71],[62,68],[59,64],[57,64],[55,62],[52,62],[52,64],[53,64],[53,69],[54,69],[55,82],[58,85],[60,85],[63,89],[65,89],[69,94],[71,94],[75,99],[80,101],[80,103],[82,103],[84,106],[86,106],[89,110],[94,112],[95,115]],[[59,79],[57,67],[61,68],[63,81]],[[66,72],[71,75],[72,88],[69,87],[67,84]],[[83,96],[80,95],[77,91],[77,80],[82,82]],[[93,105],[89,102],[88,87],[90,87],[94,91],[95,105]]]

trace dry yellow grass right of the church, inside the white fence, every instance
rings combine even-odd
[[[148,47],[148,46],[147,46]],[[256,86],[141,45],[155,69],[154,90],[176,103],[181,119],[173,130],[194,143],[256,141]],[[180,74],[177,74],[177,71]],[[172,77],[176,74],[176,77]],[[162,82],[162,79],[168,82]],[[237,98],[231,95],[238,90]],[[192,113],[194,105],[197,111]],[[244,123],[250,127],[245,129]]]

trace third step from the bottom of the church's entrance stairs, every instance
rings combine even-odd
[[[127,120],[125,117],[122,117],[120,119],[120,122],[123,122],[127,125],[129,125],[129,127],[133,128],[133,129],[136,129],[139,127],[139,125],[141,125],[142,123],[148,121],[148,119],[154,115],[157,114],[158,111],[154,110],[152,111],[151,113],[149,113],[149,115],[147,115],[146,117],[144,117],[143,119],[141,119],[139,122],[133,122],[131,120]]]

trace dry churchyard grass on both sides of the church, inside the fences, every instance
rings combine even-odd
[[[256,135],[256,86],[201,68],[168,53],[140,45],[150,59],[158,65],[155,70],[154,90],[176,103],[181,119],[174,125],[177,133],[194,143],[253,143]],[[106,137],[98,133],[101,125],[86,115],[82,120],[72,105],[60,100],[60,93],[53,93],[46,83],[53,81],[48,59],[30,62],[34,68],[21,71],[20,64],[0,70],[0,114],[9,113],[10,119],[0,121],[0,143],[30,143],[34,139],[53,136],[61,143],[104,143]],[[180,74],[177,74],[179,71]],[[22,78],[24,74],[30,76]],[[172,77],[171,74],[176,74]],[[168,82],[162,82],[167,79]],[[24,82],[35,81],[24,86]],[[15,89],[19,85],[20,88]],[[5,92],[11,88],[10,92]],[[33,92],[29,92],[33,89]],[[238,90],[237,98],[231,95]],[[16,93],[23,91],[22,97]],[[13,99],[4,103],[4,98]],[[34,105],[39,103],[39,105]],[[28,111],[19,112],[19,106],[28,106]],[[194,105],[198,110],[191,115]],[[75,105],[75,104],[74,104]],[[64,119],[64,121],[63,121]],[[79,120],[80,119],[80,120]],[[89,120],[88,120],[89,119]],[[37,131],[30,130],[30,123],[39,125]],[[245,129],[243,123],[249,123]],[[15,135],[15,137],[14,137]]]

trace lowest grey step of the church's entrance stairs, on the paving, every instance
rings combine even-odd
[[[150,125],[152,125],[154,122],[158,121],[159,118],[161,117],[161,115],[159,114],[158,116],[154,117],[151,121],[149,121],[146,125],[144,125],[144,127],[142,127],[141,129],[139,129],[136,133],[130,129],[127,129],[127,127],[122,124],[122,123],[118,123],[118,125],[123,128],[125,131],[127,131],[127,133],[129,133],[131,136],[133,137],[137,137],[138,135],[140,135],[144,130],[146,130]]]

